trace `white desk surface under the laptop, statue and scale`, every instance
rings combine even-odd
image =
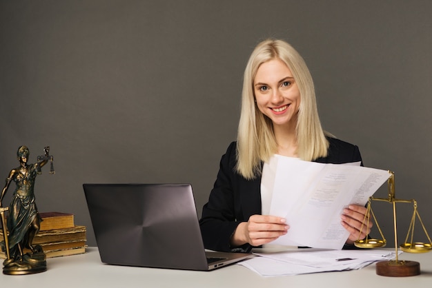
[[[21,287],[432,287],[432,252],[402,254],[400,260],[420,262],[419,276],[393,278],[377,276],[375,264],[355,271],[327,272],[299,276],[264,278],[240,265],[215,271],[184,271],[121,267],[101,263],[96,247],[87,254],[48,258],[48,271],[26,276],[0,275],[5,288]]]

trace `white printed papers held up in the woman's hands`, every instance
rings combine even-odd
[[[349,233],[340,215],[349,204],[366,205],[389,178],[386,170],[273,158],[270,214],[286,218],[288,233],[272,244],[342,249]]]

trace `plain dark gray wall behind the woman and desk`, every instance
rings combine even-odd
[[[30,163],[50,145],[39,211],[75,214],[89,245],[83,183],[192,183],[201,214],[235,140],[248,56],[275,37],[308,63],[324,128],[393,170],[432,234],[431,11],[428,0],[1,0],[0,176],[19,145]],[[375,207],[392,243],[391,205]],[[402,242],[412,207],[397,207]]]

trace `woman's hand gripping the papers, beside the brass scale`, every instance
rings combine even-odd
[[[366,211],[366,207],[349,205],[342,212],[342,226],[349,232],[346,244],[353,245],[354,241],[362,240],[366,238],[366,235],[371,233],[373,223],[371,219],[365,219]],[[363,223],[364,221],[365,223]]]

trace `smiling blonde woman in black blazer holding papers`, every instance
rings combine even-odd
[[[250,251],[289,233],[289,219],[268,215],[273,192],[265,175],[276,155],[320,163],[362,161],[357,146],[324,134],[302,56],[284,41],[267,40],[246,65],[237,142],[222,156],[202,210],[206,248]],[[350,233],[346,245],[369,234],[371,223],[362,229],[365,213],[358,205],[344,209],[341,223]]]

